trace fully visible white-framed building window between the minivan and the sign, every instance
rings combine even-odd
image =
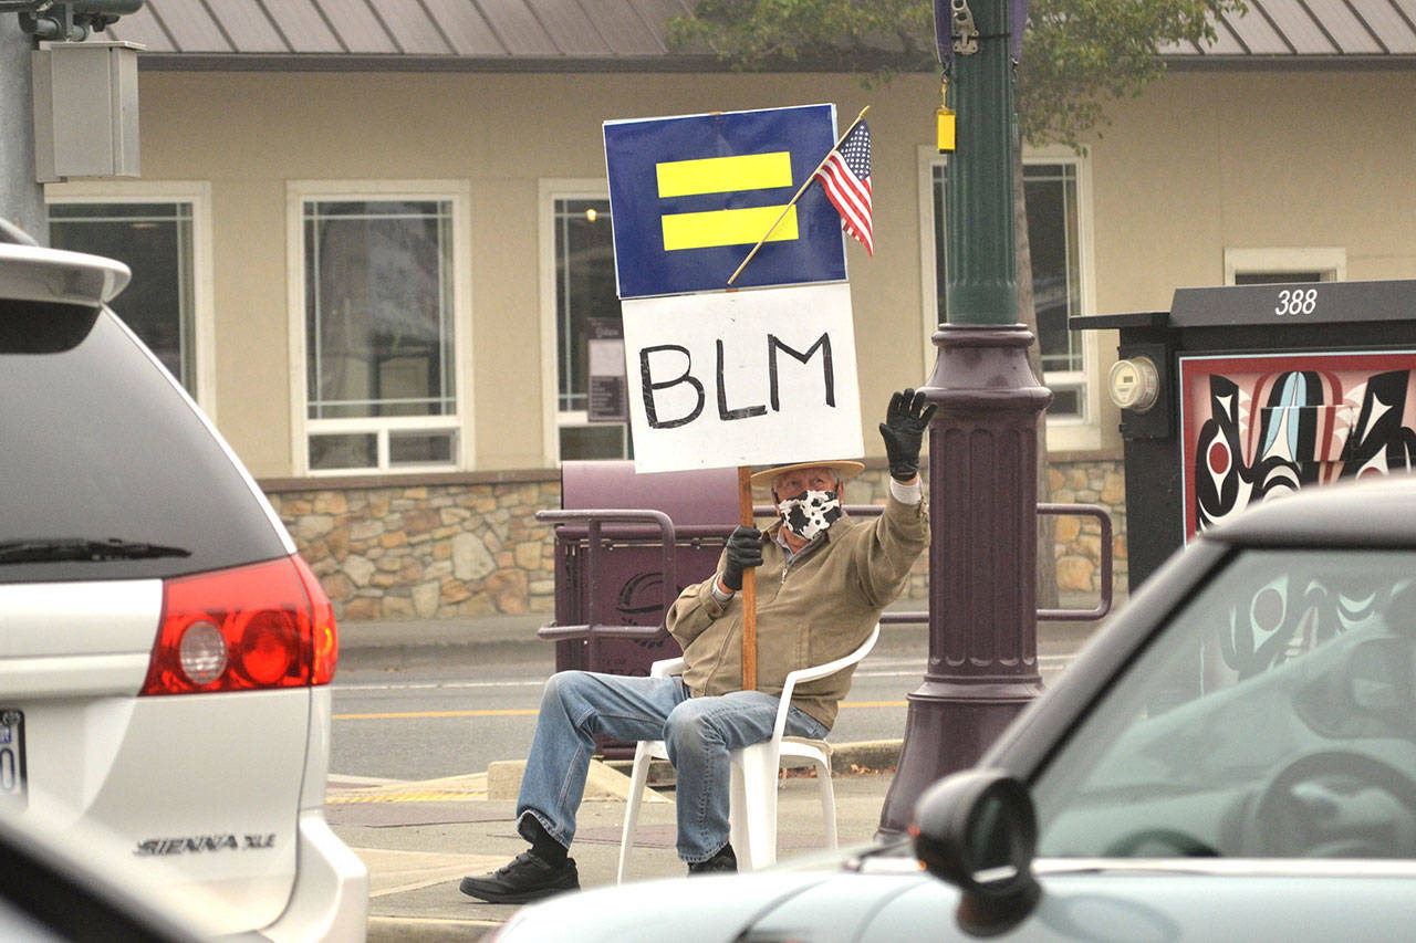
[[[453,201],[302,201],[307,469],[457,464]]]

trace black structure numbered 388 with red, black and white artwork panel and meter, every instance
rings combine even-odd
[[[1069,324],[1120,331],[1133,592],[1249,504],[1416,464],[1416,280],[1178,289]]]

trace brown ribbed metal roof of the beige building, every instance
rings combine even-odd
[[[167,68],[724,68],[671,52],[694,0],[147,0],[109,27]],[[1247,0],[1172,62],[1395,62],[1416,55],[1416,0]],[[1024,57],[1027,52],[1024,51]],[[806,68],[806,65],[803,65]]]

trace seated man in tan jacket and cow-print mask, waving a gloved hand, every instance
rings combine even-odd
[[[684,648],[674,678],[590,671],[551,677],[517,799],[517,831],[531,848],[462,892],[523,903],[579,888],[568,850],[595,736],[664,741],[677,773],[678,857],[690,874],[736,871],[728,844],[729,753],[772,735],[789,671],[857,648],[905,586],[927,542],[919,450],[935,408],[906,389],[891,398],[881,436],[889,457],[885,513],[854,521],[841,510],[860,462],[806,462],[752,476],[770,484],[779,520],[766,531],[739,527],[718,572],[688,586],[666,626]],[[758,690],[742,690],[742,589],[756,568]],[[851,687],[852,668],[796,688],[787,733],[821,738]]]

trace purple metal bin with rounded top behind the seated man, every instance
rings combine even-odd
[[[556,671],[647,675],[680,654],[663,631],[678,592],[707,579],[738,521],[738,473],[707,469],[634,474],[633,462],[566,462],[555,527]],[[605,741],[612,759],[633,743]]]

